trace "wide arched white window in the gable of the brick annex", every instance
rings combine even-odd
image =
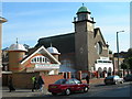
[[[45,56],[35,56],[31,59],[31,63],[51,63]]]

